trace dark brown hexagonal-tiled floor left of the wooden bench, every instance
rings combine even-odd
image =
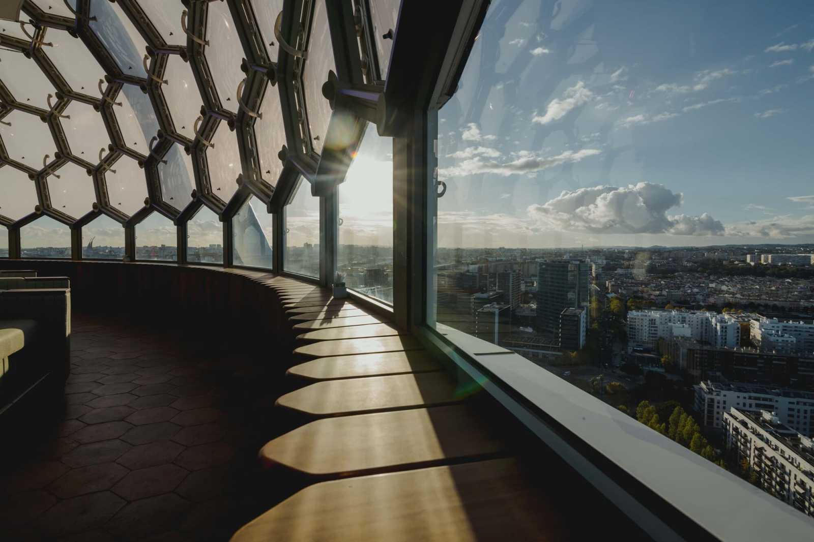
[[[74,314],[64,410],[0,471],[0,538],[228,540],[265,510],[276,394],[211,337]]]

